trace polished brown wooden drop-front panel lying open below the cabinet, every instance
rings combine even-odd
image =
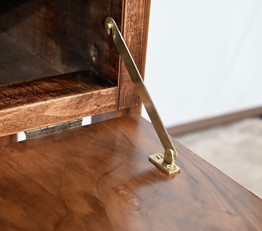
[[[1,147],[0,229],[261,230],[261,199],[173,141],[173,175],[138,115]]]

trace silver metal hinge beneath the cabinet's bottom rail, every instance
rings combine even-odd
[[[82,126],[83,118],[25,131],[26,139]]]

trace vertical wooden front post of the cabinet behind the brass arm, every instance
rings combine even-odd
[[[124,6],[125,15],[122,18],[122,27],[124,29],[121,31],[122,36],[140,72],[142,66],[143,36],[147,36],[146,33],[143,33],[144,26],[146,28],[148,27],[148,25],[144,24],[146,4],[150,4],[150,1],[126,0]],[[145,40],[147,40],[147,37],[145,37]],[[122,59],[120,60],[120,76],[121,78],[118,80],[118,109],[137,105],[139,103],[139,97]]]

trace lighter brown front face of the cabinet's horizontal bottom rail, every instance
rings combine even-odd
[[[0,111],[0,137],[75,120],[117,107],[117,87],[56,98]]]

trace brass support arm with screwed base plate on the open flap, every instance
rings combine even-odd
[[[146,108],[148,116],[165,150],[164,155],[159,154],[159,153],[154,154],[154,155],[149,156],[149,160],[155,163],[157,166],[159,166],[161,169],[163,169],[168,174],[179,172],[180,168],[177,165],[175,165],[175,159],[177,157],[177,152],[174,147],[174,144],[172,143],[166,131],[166,128],[157,112],[157,109],[148,93],[148,90],[146,89],[146,85],[137,69],[137,66],[135,65],[133,57],[131,56],[127,48],[127,45],[125,43],[125,40],[123,39],[122,34],[120,33],[116,25],[116,22],[114,21],[113,18],[111,17],[106,18],[105,28],[108,34],[110,34],[110,31],[112,29],[113,39],[114,39],[116,48],[127,68],[127,71],[131,77],[131,80],[133,81],[136,87],[136,90],[142,100],[142,103],[144,104],[144,107]]]

